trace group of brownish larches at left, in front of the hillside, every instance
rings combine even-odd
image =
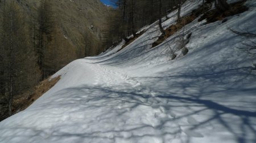
[[[48,0],[40,1],[34,16],[20,8],[17,1],[0,4],[0,103],[8,103],[12,115],[14,96],[46,78],[47,46],[54,24]]]

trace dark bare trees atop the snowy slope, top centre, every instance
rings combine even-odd
[[[115,31],[115,37],[123,38],[127,41],[127,36],[136,36],[138,29],[144,25],[151,24],[156,20],[162,23],[162,18],[168,18],[167,14],[181,6],[183,0],[118,0],[113,1],[117,5],[115,15],[110,20],[110,29]],[[180,7],[181,8],[181,7]],[[179,8],[179,18],[180,17]],[[121,22],[119,22],[121,21]],[[162,25],[161,32],[164,33]],[[111,28],[114,27],[114,28]]]

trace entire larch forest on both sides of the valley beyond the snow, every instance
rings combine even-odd
[[[213,2],[213,0],[202,1],[200,12],[197,11],[199,14],[208,10],[209,3]],[[175,15],[177,21],[183,25],[187,24],[185,23],[187,19],[184,21],[180,16],[181,4],[184,2],[184,0],[113,1],[117,8],[108,8],[109,13],[104,24],[99,24],[104,27],[104,30],[91,25],[92,32],[73,33],[73,39],[69,41],[78,45],[72,45],[67,41],[68,36],[71,35],[67,34],[68,30],[64,31],[64,28],[58,27],[61,19],[56,18],[57,14],[52,1],[41,0],[38,6],[30,7],[24,6],[22,1],[1,0],[0,110],[2,118],[0,120],[13,115],[21,108],[17,105],[14,107],[14,97],[26,93],[26,99],[30,98],[35,94],[35,86],[40,81],[47,79],[73,59],[100,54],[122,40],[129,44],[143,33],[143,31],[137,33],[139,29],[156,20],[162,32],[161,37],[164,38],[168,33],[162,27],[162,20],[168,19],[167,14],[174,10],[178,10]],[[229,9],[225,0],[214,2],[219,12]],[[72,23],[70,21],[70,24]],[[66,27],[66,29],[69,28],[72,27]],[[95,33],[97,34],[94,35]]]

